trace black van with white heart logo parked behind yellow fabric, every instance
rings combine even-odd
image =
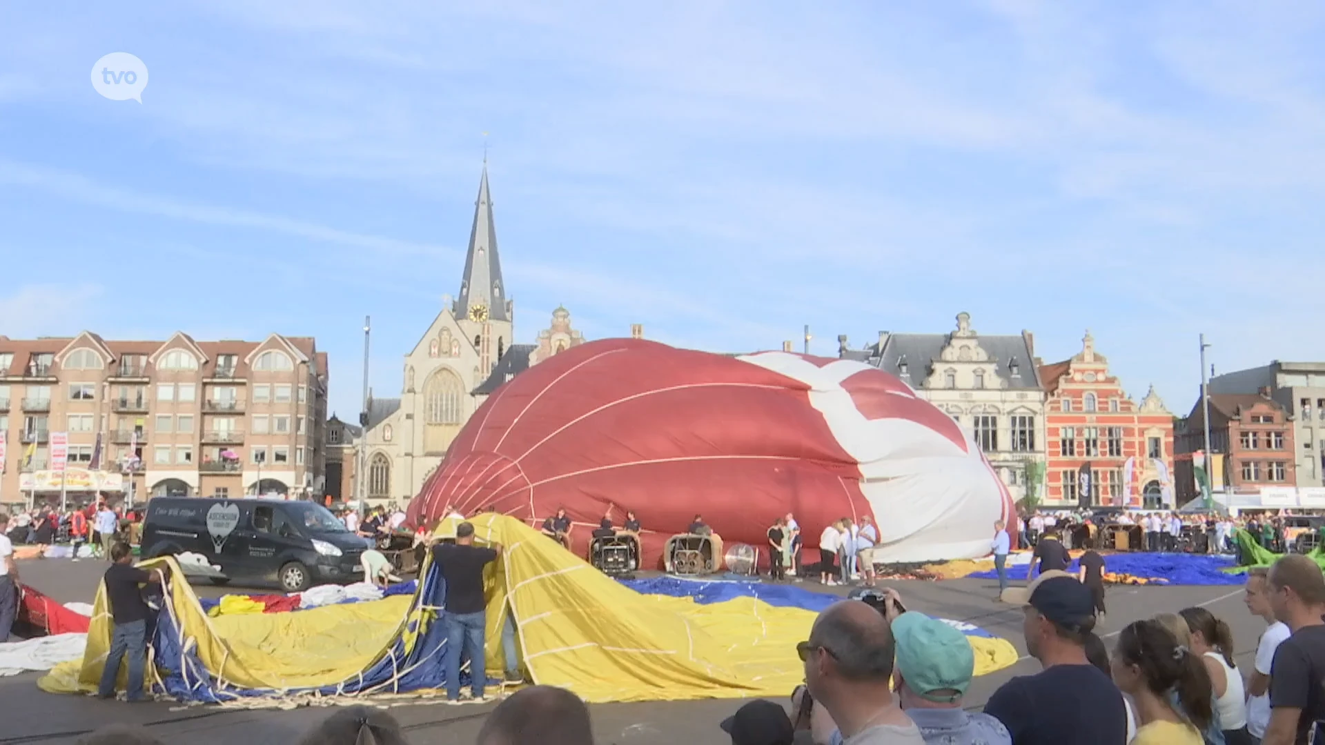
[[[154,497],[143,518],[142,555],[201,554],[231,579],[270,582],[288,593],[313,583],[356,582],[368,541],[315,502],[264,498]]]

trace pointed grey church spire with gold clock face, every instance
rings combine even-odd
[[[478,180],[478,200],[474,203],[474,227],[469,231],[469,251],[465,255],[465,276],[460,281],[460,296],[450,309],[465,337],[478,351],[478,379],[486,378],[507,349],[515,321],[515,306],[506,297],[501,277],[501,257],[497,253],[497,224],[493,203],[488,192],[488,160]]]

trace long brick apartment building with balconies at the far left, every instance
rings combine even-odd
[[[326,353],[306,337],[0,335],[0,504],[58,504],[61,490],[73,504],[98,492],[317,496],[326,391]],[[64,475],[53,432],[68,433]]]

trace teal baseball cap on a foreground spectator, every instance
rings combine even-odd
[[[908,688],[939,704],[950,704],[966,693],[975,675],[975,652],[965,634],[916,611],[893,619],[892,628],[897,642],[897,669]]]

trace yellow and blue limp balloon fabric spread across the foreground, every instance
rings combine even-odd
[[[453,537],[457,522],[443,522],[439,537]],[[518,520],[481,514],[470,522],[478,544],[505,546],[485,574],[489,672],[502,669],[502,614],[509,607],[533,680],[591,703],[776,697],[803,677],[795,647],[810,632],[812,611],[754,598],[700,604],[641,595]],[[155,563],[174,562],[142,566]],[[156,681],[176,699],[209,703],[440,688],[444,587],[431,559],[421,577],[412,598],[219,618],[207,616],[186,582],[172,581],[155,638]],[[44,689],[95,689],[110,647],[105,590],[95,608],[82,663],[53,669],[38,681]],[[977,675],[1016,660],[1006,640],[970,640]],[[123,667],[121,675],[123,685]]]

